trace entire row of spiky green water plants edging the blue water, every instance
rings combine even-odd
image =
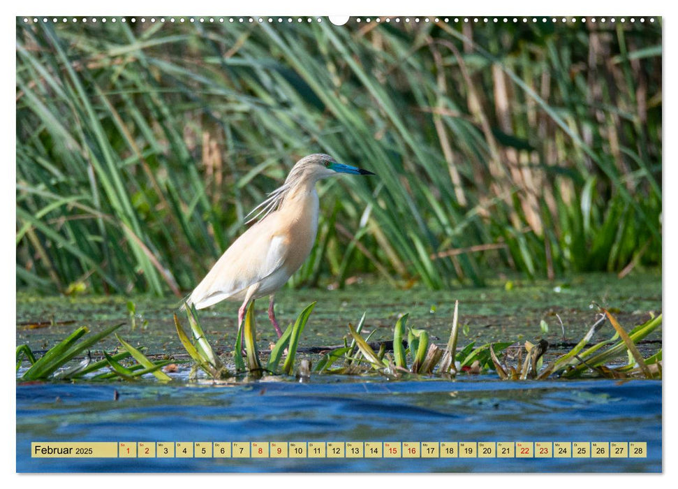
[[[264,375],[290,377],[293,374],[299,379],[307,379],[311,374],[379,374],[388,379],[411,376],[451,379],[459,374],[492,372],[496,372],[500,379],[505,380],[545,380],[554,377],[561,379],[662,377],[661,348],[648,358],[643,358],[637,347],[640,340],[661,326],[661,314],[652,316],[649,321],[635,326],[627,333],[609,310],[600,308],[598,320],[580,342],[548,363],[545,363],[544,358],[550,345],[543,339],[534,343],[492,342],[480,346],[471,341],[463,348],[458,348],[458,302],[455,302],[450,338],[444,349],[432,341],[427,330],[408,326],[408,314],[403,314],[397,320],[392,342],[370,342],[374,332],[365,335],[366,314],[363,314],[357,326],[348,324],[348,335],[344,337],[344,345],[323,351],[320,360],[312,367],[309,359],[297,359],[297,351],[300,337],[315,305],[316,302],[308,305],[297,316],[295,323],[290,323],[272,346],[267,363],[263,366],[261,353],[257,348],[252,302],[237,333],[233,351],[233,371],[229,370],[209,344],[200,326],[196,309],[186,307],[190,335],[186,333],[176,314],[174,320],[179,340],[193,360],[193,369],[189,377],[195,379],[198,370],[205,372],[210,379],[220,381],[260,379]],[[591,344],[594,335],[607,321],[614,328],[614,335],[607,340]],[[85,327],[78,328],[39,359],[36,359],[27,345],[19,346],[17,372],[22,362],[28,361],[31,364],[20,380],[82,379],[87,375],[88,379],[94,380],[134,380],[145,374],[152,374],[159,381],[170,381],[172,378],[161,369],[174,360],[149,360],[141,349],[136,349],[115,333],[120,326],[121,324],[112,326],[80,342],[78,340],[88,330]],[[104,351],[102,360],[92,361],[89,349],[109,335],[115,335],[122,351],[115,354]],[[67,368],[66,364],[75,357],[84,357],[84,360],[74,367]],[[626,358],[626,362],[620,364],[620,358]],[[135,363],[123,365],[121,363],[123,360],[132,360]]]

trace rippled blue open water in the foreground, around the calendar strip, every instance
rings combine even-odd
[[[17,384],[17,472],[661,472],[661,393],[661,381],[483,376]],[[45,459],[31,441],[647,441],[648,456]]]

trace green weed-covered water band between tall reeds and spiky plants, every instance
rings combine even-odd
[[[510,290],[501,283],[486,289],[455,291],[393,290],[381,284],[355,284],[345,290],[284,289],[277,295],[276,312],[281,326],[294,321],[310,302],[317,301],[300,346],[343,344],[348,323],[355,325],[367,312],[365,330],[376,332],[372,340],[392,339],[392,328],[399,314],[409,313],[409,326],[424,328],[445,344],[450,335],[452,311],[459,300],[459,322],[466,335],[459,345],[471,341],[524,341],[545,338],[555,347],[577,342],[596,321],[595,303],[606,307],[628,329],[643,323],[650,314],[661,312],[661,276],[639,275],[619,280],[614,275],[586,275],[561,282],[511,282]],[[132,298],[138,318],[135,330],[126,307],[129,298],[87,296],[80,298],[35,298],[19,294],[17,298],[17,344],[27,343],[34,350],[48,349],[71,333],[76,326],[87,325],[96,331],[125,323],[120,334],[133,344],[146,346],[149,353],[183,352],[175,333],[172,312],[176,298]],[[267,349],[274,330],[267,318],[267,300],[257,302],[259,348]],[[200,311],[200,321],[209,341],[220,353],[233,349],[238,305],[221,302]],[[184,314],[180,318],[186,324]],[[144,328],[142,320],[148,321]],[[548,331],[540,326],[545,321]],[[561,325],[562,321],[562,325]],[[36,325],[36,323],[38,323]],[[45,324],[45,327],[36,328]],[[53,323],[53,324],[50,324]],[[563,334],[564,332],[564,334]],[[600,339],[614,334],[611,326],[600,332]],[[648,340],[661,340],[659,333]],[[103,343],[116,346],[115,338]]]

